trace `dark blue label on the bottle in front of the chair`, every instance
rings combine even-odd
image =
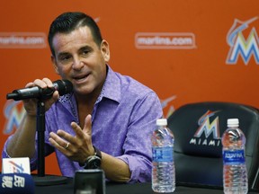
[[[225,164],[245,163],[244,150],[223,150],[223,162]]]

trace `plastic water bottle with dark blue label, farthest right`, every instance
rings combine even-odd
[[[238,119],[228,119],[228,128],[222,136],[223,186],[226,194],[246,194],[246,137],[239,128]]]

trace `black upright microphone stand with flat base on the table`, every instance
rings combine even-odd
[[[35,185],[48,186],[67,183],[67,177],[45,175],[45,103],[37,103],[38,176],[33,176]]]

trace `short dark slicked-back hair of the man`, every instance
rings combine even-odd
[[[94,22],[94,19],[85,13],[78,12],[67,12],[60,14],[56,20],[54,20],[49,27],[49,47],[53,56],[55,56],[55,51],[53,48],[53,37],[57,33],[70,33],[75,31],[79,27],[87,26],[92,32],[94,42],[100,46],[102,43],[101,31]]]

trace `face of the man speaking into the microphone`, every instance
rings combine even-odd
[[[55,70],[62,79],[72,82],[76,94],[100,93],[106,77],[105,64],[110,59],[107,41],[103,40],[98,47],[90,29],[85,26],[68,34],[56,34],[53,48]]]

